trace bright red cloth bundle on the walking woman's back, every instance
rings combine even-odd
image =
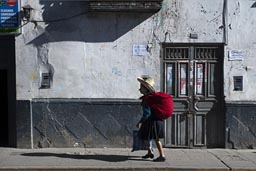
[[[151,108],[153,115],[160,120],[168,119],[173,113],[173,99],[172,96],[156,92],[143,98],[146,104]]]

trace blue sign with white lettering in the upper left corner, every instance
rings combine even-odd
[[[19,0],[0,0],[0,34],[17,34],[19,29]]]

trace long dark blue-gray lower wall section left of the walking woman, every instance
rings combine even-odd
[[[131,147],[139,101],[34,99],[35,147]]]

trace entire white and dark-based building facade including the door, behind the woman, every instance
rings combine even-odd
[[[31,16],[15,36],[17,147],[131,147],[136,78],[151,75],[174,97],[166,147],[255,148],[256,1],[25,5]]]

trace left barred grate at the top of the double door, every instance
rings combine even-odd
[[[188,59],[188,48],[166,48],[165,59]]]

